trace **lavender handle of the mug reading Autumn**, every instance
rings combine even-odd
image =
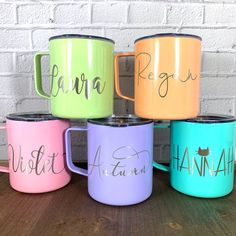
[[[65,142],[66,142],[66,163],[68,168],[77,174],[81,174],[84,176],[88,176],[88,171],[83,168],[79,168],[75,166],[72,162],[72,154],[71,154],[71,131],[87,131],[87,128],[80,127],[71,127],[68,128],[65,132]]]

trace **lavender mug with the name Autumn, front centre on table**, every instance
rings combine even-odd
[[[71,131],[87,131],[88,170],[71,156]],[[66,130],[68,168],[88,177],[89,195],[108,205],[132,205],[152,193],[153,122],[134,116],[88,120]]]

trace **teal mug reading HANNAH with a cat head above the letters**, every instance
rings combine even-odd
[[[201,198],[229,194],[234,186],[235,121],[221,115],[171,121],[170,166],[154,162],[154,167],[170,172],[170,185],[181,193]]]

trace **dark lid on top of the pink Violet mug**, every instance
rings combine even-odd
[[[60,120],[46,112],[24,112],[24,113],[12,113],[7,115],[8,120],[18,121],[46,121],[46,120]]]

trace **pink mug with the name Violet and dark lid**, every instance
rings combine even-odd
[[[15,113],[7,116],[9,173],[13,189],[25,193],[43,193],[70,182],[65,161],[64,132],[68,120],[47,113]]]

